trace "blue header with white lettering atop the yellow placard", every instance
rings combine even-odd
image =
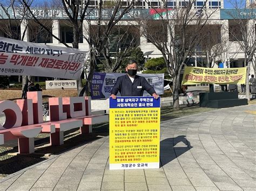
[[[110,97],[109,103],[109,108],[160,108],[160,97],[117,97],[115,100]]]

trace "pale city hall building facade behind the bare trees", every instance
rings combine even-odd
[[[111,1],[103,1],[105,5],[111,5]],[[130,1],[124,1],[124,6],[129,5]],[[167,2],[163,1],[139,1],[137,2],[136,6],[134,6],[134,9],[132,9],[129,14],[126,14],[124,16],[124,19],[121,20],[118,23],[118,26],[116,27],[116,35],[119,33],[122,33],[122,31],[131,30],[132,20],[134,20],[137,17],[140,17],[141,15],[145,15],[151,12],[151,10],[154,9],[160,9],[160,8],[169,8],[169,9],[176,9],[176,8],[183,8],[186,6],[186,4],[189,3],[188,0],[167,0]],[[254,0],[247,0],[247,5],[251,6],[255,3]],[[195,12],[203,8],[204,4],[206,5],[206,9],[208,11],[214,10],[214,14],[209,19],[208,25],[219,25],[219,32],[220,32],[220,43],[225,43],[227,46],[223,54],[221,56],[217,56],[215,63],[215,67],[217,67],[218,63],[223,62],[224,67],[243,67],[244,66],[244,53],[242,52],[242,49],[239,45],[239,38],[233,38],[231,32],[229,32],[226,29],[233,30],[236,28],[237,23],[234,21],[235,17],[231,17],[228,12],[232,9],[223,9],[224,8],[224,0],[210,0],[210,1],[204,1],[204,0],[197,0],[193,4],[193,9]],[[81,5],[83,6],[83,5]],[[87,22],[84,22],[83,24],[83,31],[81,31],[81,37],[79,39],[79,48],[80,49],[89,49],[89,44],[87,43],[87,40],[85,37],[93,36],[93,30],[92,26],[97,25],[95,20],[97,19],[97,16],[99,13],[96,9],[98,6],[98,1],[90,1],[89,2],[89,8],[91,11],[91,16],[89,16],[89,19],[91,19],[91,22],[89,25]],[[50,44],[50,45],[56,45],[56,46],[65,46],[62,43],[60,43],[57,39],[53,38],[48,32],[46,32],[42,27],[38,27],[37,24],[32,19],[23,19],[22,24],[15,28],[17,19],[14,19],[14,16],[16,18],[18,15],[21,15],[18,11],[12,11],[10,10],[10,15],[12,17],[11,23],[14,26],[14,29],[17,32],[17,39],[22,39],[24,41],[31,41],[35,43],[43,43],[43,44]],[[70,26],[68,22],[68,16],[65,14],[65,11],[63,10],[50,10],[50,14],[48,12],[48,15],[46,15],[44,9],[35,9],[35,13],[37,13],[37,16],[39,19],[42,20],[42,23],[45,26],[49,26],[49,30],[52,32],[52,34],[59,39],[63,40],[64,43],[68,44],[69,46],[72,46],[72,38],[73,38],[73,29]],[[104,10],[103,10],[104,11]],[[233,10],[234,12],[235,10]],[[241,19],[241,17],[248,16],[250,14],[250,19],[248,23],[250,25],[254,26],[254,35],[251,38],[254,38],[255,42],[255,18],[256,18],[256,10],[253,9],[246,9],[241,10],[237,16]],[[102,16],[105,18],[108,18],[111,15],[111,11],[105,11],[102,13]],[[1,19],[2,18],[2,19]],[[247,19],[248,17],[246,17]],[[5,31],[5,24],[8,22],[8,18],[4,16],[4,11],[0,10],[0,36],[3,37],[9,37],[8,31]],[[115,40],[116,36],[113,36],[110,38],[110,41]],[[211,38],[211,37],[209,37]],[[167,39],[168,40],[168,39]],[[241,39],[240,39],[241,40]],[[126,41],[119,42],[118,45],[112,45],[110,48],[110,52],[118,52],[122,51],[123,48],[126,47],[126,45],[130,45],[131,42],[133,43],[133,46],[139,46],[142,51],[147,55],[148,58],[156,58],[161,56],[161,52],[144,36],[139,36],[136,40],[134,40],[133,36],[127,36]],[[114,43],[113,43],[114,44]],[[198,51],[195,52],[195,55],[188,60],[187,65],[192,66],[200,66],[200,67],[207,67],[207,66],[213,66],[214,63],[206,63],[207,59],[205,56],[201,53],[203,50],[201,48],[198,49]],[[202,56],[203,55],[203,56]],[[252,65],[255,65],[255,56]],[[253,67],[251,67],[251,72],[254,73]]]

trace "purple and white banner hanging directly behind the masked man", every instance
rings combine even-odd
[[[119,76],[126,75],[125,73],[99,73],[95,72],[91,83],[91,98],[109,98],[111,89],[117,81]],[[158,95],[164,94],[164,74],[137,74],[145,77],[147,82],[154,88]],[[117,94],[120,96],[120,93]],[[150,96],[144,91],[143,96]]]

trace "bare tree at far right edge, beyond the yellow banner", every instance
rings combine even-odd
[[[228,27],[228,32],[233,38],[233,41],[240,46],[244,53],[244,66],[247,67],[246,72],[246,98],[250,101],[250,84],[249,75],[251,70],[251,63],[255,56],[255,19],[253,16],[253,9],[247,9],[245,1],[236,0],[230,2],[234,6],[234,11],[226,11],[227,15],[232,18]],[[241,14],[244,12],[244,14]],[[253,63],[252,63],[253,65]],[[255,73],[255,69],[254,69]]]

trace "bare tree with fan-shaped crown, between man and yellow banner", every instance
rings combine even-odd
[[[173,78],[173,109],[179,109],[180,74],[188,58],[200,43],[200,36],[214,10],[193,9],[196,1],[177,9],[154,9],[154,18],[138,20],[147,41],[156,46],[164,57],[167,72]],[[207,2],[207,1],[206,1]],[[206,3],[205,2],[205,3]],[[164,2],[166,5],[166,2]]]

